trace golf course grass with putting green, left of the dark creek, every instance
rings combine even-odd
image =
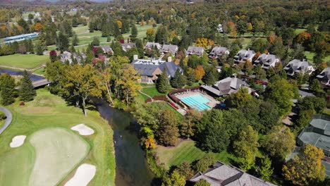
[[[13,113],[13,121],[0,135],[1,185],[27,185],[29,182],[31,185],[35,185],[33,180],[37,178],[40,181],[39,184],[42,185],[42,178],[38,177],[37,172],[33,170],[37,165],[39,165],[39,171],[43,171],[44,175],[49,173],[50,176],[56,176],[59,182],[54,185],[63,185],[73,176],[75,168],[80,163],[90,163],[97,167],[96,175],[90,185],[114,185],[113,131],[97,111],[88,111],[88,116],[85,118],[81,109],[67,106],[61,97],[50,94],[46,89],[38,89],[35,100],[25,103],[25,106],[18,106],[18,104],[19,102],[16,101],[7,107]],[[78,132],[70,130],[72,126],[80,123],[85,123],[92,128],[95,132],[94,135],[80,136]],[[48,133],[49,129],[54,128],[59,131]],[[56,133],[61,133],[61,135],[56,135]],[[21,147],[12,149],[9,147],[9,143],[16,135],[26,135],[27,139]],[[47,136],[47,138],[42,138],[40,135]],[[59,136],[61,137],[56,140],[56,137]],[[48,151],[44,149],[44,147],[47,148],[47,144],[49,145]],[[75,149],[71,145],[75,147],[80,145],[82,148]],[[90,147],[86,156],[84,154],[85,145]],[[63,151],[59,152],[56,148]],[[77,151],[78,154],[75,153],[75,157],[78,158],[72,164],[70,164],[71,158],[63,158],[65,154]],[[49,159],[46,162],[41,161],[40,156]],[[61,167],[58,170],[52,167],[54,166],[52,164],[54,156],[61,158],[59,165],[56,165],[56,168]],[[40,162],[44,162],[45,165]],[[71,168],[65,164],[71,165]],[[56,175],[52,175],[54,171],[56,171]]]

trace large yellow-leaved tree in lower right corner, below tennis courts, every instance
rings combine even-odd
[[[322,149],[306,144],[297,156],[283,166],[283,176],[294,185],[310,185],[324,180],[325,167],[322,165]]]

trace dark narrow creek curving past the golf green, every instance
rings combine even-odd
[[[137,132],[132,130],[134,126],[130,123],[133,117],[130,113],[112,108],[105,101],[95,102],[102,118],[108,120],[114,130],[116,185],[150,185],[154,175],[147,166]]]

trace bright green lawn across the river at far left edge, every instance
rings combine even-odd
[[[0,56],[0,65],[16,68],[37,68],[49,61],[49,56],[38,56],[36,54],[13,54]]]

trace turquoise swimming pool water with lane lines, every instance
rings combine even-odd
[[[211,107],[207,106],[206,103],[209,102],[209,99],[203,97],[202,94],[195,94],[188,97],[181,98],[183,103],[187,104],[188,106],[196,109],[197,111],[204,111],[207,109],[211,109]]]

